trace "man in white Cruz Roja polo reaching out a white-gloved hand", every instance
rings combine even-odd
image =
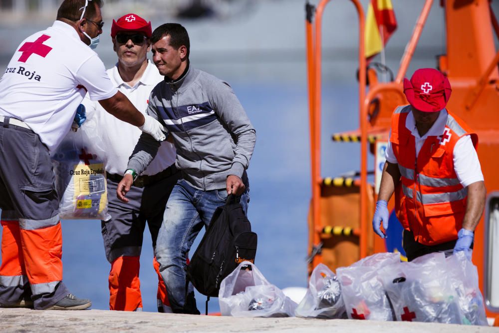
[[[101,0],[64,0],[53,25],[20,43],[0,79],[1,307],[91,306],[62,282],[59,200],[49,157],[86,92],[119,119],[165,138],[161,124],[116,89],[91,49],[102,33],[101,6]]]

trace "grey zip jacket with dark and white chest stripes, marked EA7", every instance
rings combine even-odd
[[[223,189],[229,175],[247,178],[256,134],[228,83],[190,67],[177,81],[156,85],[147,113],[173,136],[176,166],[195,188]],[[140,174],[159,145],[151,135],[142,133],[127,168]]]

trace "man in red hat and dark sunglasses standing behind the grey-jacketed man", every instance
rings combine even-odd
[[[111,37],[118,62],[107,70],[114,86],[144,114],[151,90],[163,80],[156,66],[147,59],[147,52],[151,50],[151,33],[151,22],[137,14],[129,13],[117,21],[113,20]],[[88,117],[98,117],[99,130],[102,131],[98,135],[106,151],[105,169],[111,219],[102,221],[101,225],[106,258],[111,263],[109,308],[142,311],[139,259],[144,229],[147,221],[155,248],[166,202],[180,178],[180,172],[175,168],[175,147],[170,142],[161,143],[147,170],[135,180],[135,186],[128,195],[129,201],[123,203],[114,193],[125,174],[128,157],[132,155],[141,132],[109,116],[98,103],[88,98],[85,98],[83,105]],[[85,125],[82,130],[85,130]],[[153,265],[158,272],[159,264],[155,258]],[[171,312],[166,287],[159,272],[158,277],[158,311]]]

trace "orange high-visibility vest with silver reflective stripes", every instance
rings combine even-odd
[[[458,239],[466,211],[468,189],[454,170],[453,151],[458,140],[470,135],[475,149],[478,136],[449,113],[444,133],[428,136],[416,156],[416,140],[406,128],[411,106],[399,106],[392,115],[390,142],[401,181],[395,192],[395,211],[404,229],[425,245]]]

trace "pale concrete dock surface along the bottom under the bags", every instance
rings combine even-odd
[[[0,332],[369,332],[499,333],[499,328],[434,323],[235,318],[152,312],[0,309]]]

